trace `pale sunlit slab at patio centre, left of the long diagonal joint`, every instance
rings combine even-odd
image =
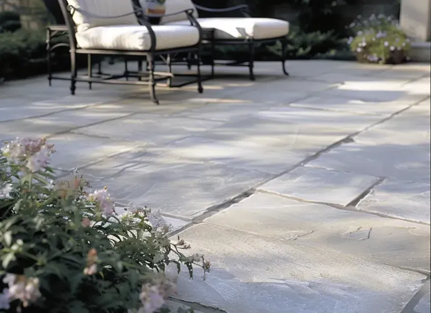
[[[213,162],[230,167],[279,174],[306,158],[305,154],[268,151],[260,147],[237,147],[223,141],[190,136],[161,149],[167,154],[199,162]]]

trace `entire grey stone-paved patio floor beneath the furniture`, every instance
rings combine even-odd
[[[429,312],[429,64],[288,67],[219,68],[159,106],[142,87],[7,82],[0,139],[47,136],[59,177],[79,168],[119,213],[160,209],[212,263],[179,280],[201,312]]]

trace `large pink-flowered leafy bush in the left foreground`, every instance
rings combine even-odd
[[[75,171],[55,182],[53,146],[19,139],[0,152],[0,311],[153,313],[175,293],[170,263],[210,264],[171,230],[160,212],[129,205],[118,216],[107,189]]]

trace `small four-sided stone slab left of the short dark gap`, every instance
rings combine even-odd
[[[297,167],[258,190],[305,201],[347,206],[378,182],[367,175],[343,173],[323,168]]]

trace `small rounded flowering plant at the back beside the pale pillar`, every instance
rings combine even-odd
[[[348,39],[359,62],[399,64],[409,60],[410,41],[391,16],[371,15],[347,26],[353,32]]]

